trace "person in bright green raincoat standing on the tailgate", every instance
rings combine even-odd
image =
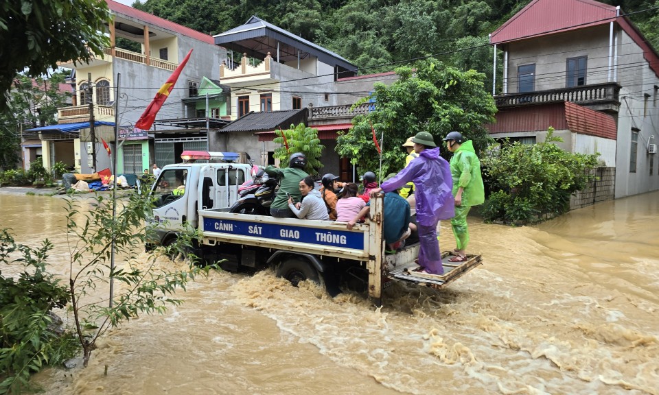
[[[478,160],[472,141],[465,141],[460,132],[450,132],[444,137],[446,147],[453,153],[450,161],[453,179],[453,197],[455,217],[451,219],[451,228],[455,236],[455,256],[450,262],[467,261],[465,250],[469,244],[467,214],[472,206],[485,202],[485,188],[481,176],[481,161]]]

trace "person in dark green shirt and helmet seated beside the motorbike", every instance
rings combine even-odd
[[[279,180],[279,191],[275,195],[275,200],[270,206],[270,215],[279,218],[297,218],[290,208],[288,208],[288,196],[290,193],[294,202],[300,202],[302,194],[300,193],[300,181],[309,174],[304,171],[307,165],[307,158],[301,152],[296,152],[288,158],[288,167],[279,169],[270,165],[264,169],[268,176],[275,177]]]

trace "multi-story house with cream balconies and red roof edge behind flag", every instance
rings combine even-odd
[[[185,99],[197,94],[198,84],[204,77],[218,80],[220,75],[217,65],[220,59],[226,58],[226,51],[216,46],[213,37],[207,34],[113,0],[106,1],[113,16],[113,23],[108,26],[111,47],[105,49],[104,56],[88,64],[74,64],[73,60],[60,63],[60,67],[75,70],[75,80],[72,82],[75,84],[76,101],[74,106],[58,110],[58,122],[68,125],[62,126],[66,131],[56,128],[40,131],[44,165],[49,166],[54,160],[62,160],[60,156],[70,152],[74,155],[76,170],[89,172],[92,145],[95,145],[96,169],[109,167],[108,155],[100,138],[110,143],[111,149],[115,149],[115,116],[119,122],[119,137],[123,141],[117,151],[119,173],[139,174],[143,169],[149,169],[152,163],[174,163],[170,157],[177,147],[205,149],[205,134],[194,137],[170,134],[167,138],[157,139],[153,130],[144,131],[132,126],[179,62],[193,49],[174,90],[159,110],[157,121],[186,117],[188,104]],[[126,40],[134,43],[139,50],[118,47],[119,38],[124,43]],[[115,97],[117,85],[119,97]],[[115,115],[116,101],[119,113]],[[93,106],[89,106],[90,103]],[[93,108],[95,121],[106,123],[95,130],[95,143],[90,139],[90,108]],[[159,127],[156,124],[154,128]],[[178,126],[175,128],[180,129]],[[67,149],[49,149],[54,142],[67,145]]]

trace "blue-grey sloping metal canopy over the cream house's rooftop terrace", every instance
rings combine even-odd
[[[316,56],[321,62],[331,66],[338,66],[346,70],[356,71],[356,65],[338,56],[319,45],[316,45],[300,36],[296,36],[281,27],[268,23],[257,16],[251,16],[244,25],[234,27],[213,36],[216,45],[247,53],[253,58],[265,58],[270,55],[277,59],[277,43],[279,43],[279,60],[290,62],[297,60],[298,50],[301,59]]]

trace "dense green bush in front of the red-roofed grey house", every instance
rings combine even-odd
[[[481,159],[492,191],[483,205],[486,221],[528,224],[569,210],[570,195],[594,180],[599,154],[565,152],[554,144],[561,141],[549,128],[543,143],[507,144]]]

